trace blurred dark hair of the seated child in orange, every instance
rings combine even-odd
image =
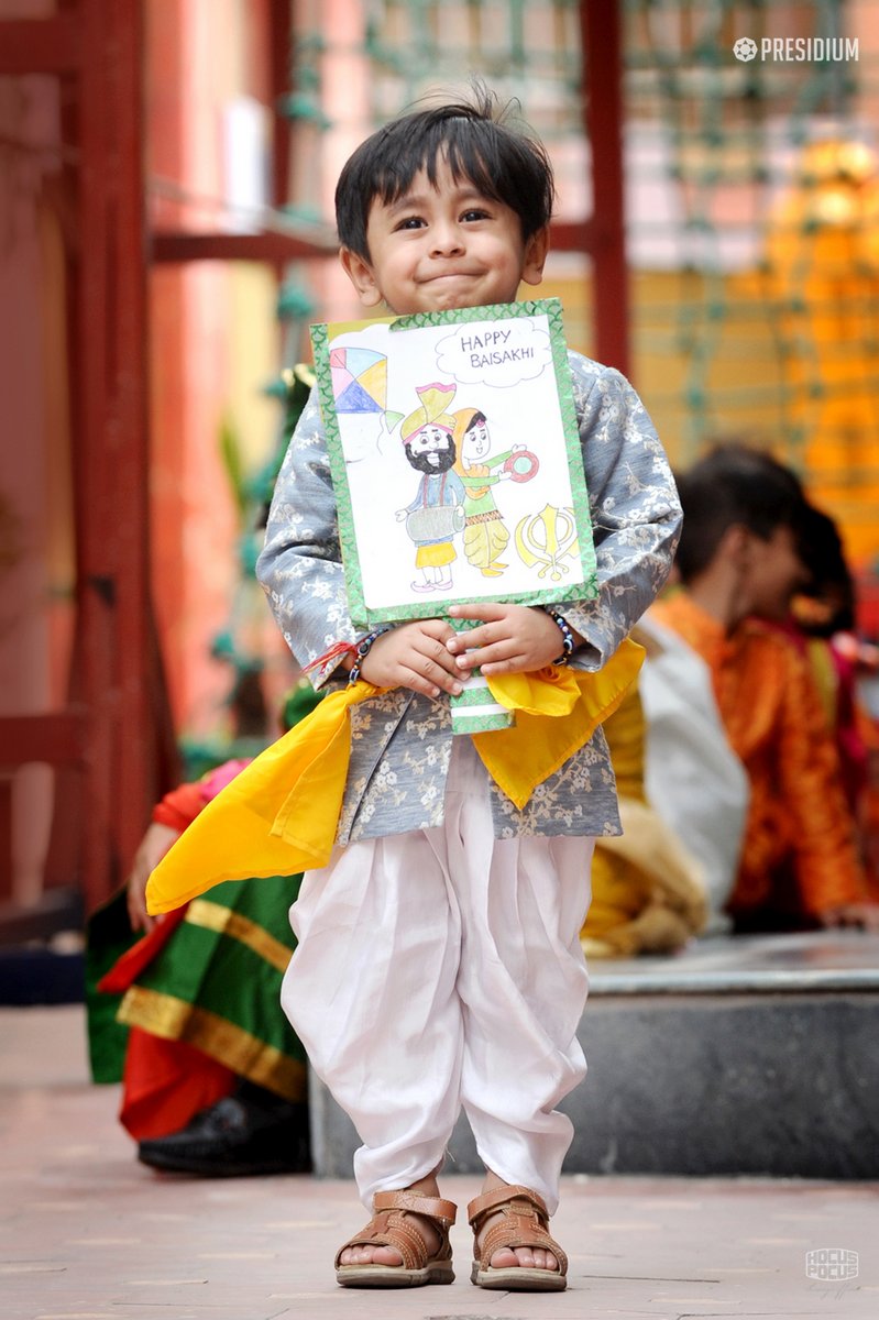
[[[717,445],[677,477],[684,529],[676,565],[682,582],[713,561],[731,527],[768,541],[779,527],[802,536],[806,499],[792,469],[746,445]]]

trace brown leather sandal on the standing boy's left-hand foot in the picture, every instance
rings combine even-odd
[[[455,1222],[458,1206],[438,1196],[416,1192],[376,1192],[374,1217],[355,1237],[341,1246],[335,1257],[335,1279],[343,1288],[420,1288],[425,1283],[451,1283],[451,1243],[449,1229]],[[410,1214],[433,1220],[440,1234],[440,1249],[428,1255],[426,1243]],[[403,1257],[403,1265],[341,1265],[348,1246],[389,1246]]]

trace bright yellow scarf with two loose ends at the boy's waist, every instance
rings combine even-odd
[[[472,741],[491,777],[520,810],[536,785],[616,709],[643,659],[643,648],[626,640],[598,673],[550,665],[488,678],[492,696],[516,713],[516,723],[474,734]],[[152,873],[146,909],[170,912],[223,880],[326,866],[351,755],[348,710],[381,690],[360,680],[331,693],[236,775]]]

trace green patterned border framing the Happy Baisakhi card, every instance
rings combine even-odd
[[[310,327],[311,348],[314,352],[314,370],[317,375],[318,400],[321,416],[326,432],[327,454],[330,459],[330,474],[335,488],[339,519],[339,541],[342,545],[342,564],[344,566],[344,581],[348,594],[348,607],[351,622],[355,627],[372,628],[380,623],[400,623],[404,619],[434,619],[447,615],[453,605],[470,605],[467,595],[443,598],[436,597],[430,601],[407,601],[399,606],[384,606],[379,610],[368,609],[363,594],[363,578],[360,574],[360,560],[356,546],[354,528],[354,507],[348,487],[344,454],[342,450],[342,437],[339,434],[338,416],[335,412],[335,399],[333,396],[333,376],[330,372],[330,330],[335,333],[337,326],[346,330],[355,330],[358,326],[367,329],[371,325],[389,325],[391,330],[416,330],[421,327],[434,327],[443,325],[466,325],[470,321],[507,321],[517,317],[545,315],[549,326],[549,343],[553,370],[556,374],[556,388],[561,405],[562,430],[568,453],[568,467],[570,473],[571,496],[574,500],[574,525],[579,543],[579,561],[583,572],[583,582],[575,587],[575,599],[586,601],[598,595],[595,548],[593,544],[593,525],[589,512],[589,492],[586,490],[586,474],[583,471],[583,457],[579,445],[579,429],[577,425],[577,409],[574,405],[574,391],[571,387],[570,370],[568,366],[568,345],[562,322],[562,305],[558,298],[538,298],[527,302],[503,302],[482,308],[461,308],[454,312],[422,312],[409,317],[376,317],[363,322],[321,322]],[[571,599],[571,583],[564,582],[558,586],[540,586],[527,593],[499,593],[492,595],[492,601],[512,605],[554,605]]]

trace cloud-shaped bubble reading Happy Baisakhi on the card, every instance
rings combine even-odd
[[[462,385],[508,389],[552,363],[549,334],[527,317],[470,321],[437,345],[437,367]]]

